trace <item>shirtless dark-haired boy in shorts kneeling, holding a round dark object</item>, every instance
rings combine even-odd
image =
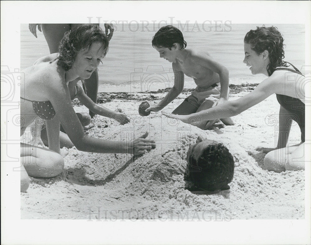
[[[157,105],[146,109],[160,111],[172,102],[182,91],[184,75],[194,79],[197,87],[172,113],[188,115],[206,110],[228,100],[229,72],[227,68],[214,61],[207,52],[185,49],[183,34],[174,26],[161,27],[152,39],[152,46],[160,53],[160,58],[172,62],[174,86]],[[221,87],[221,89],[220,89]],[[234,125],[230,118],[220,119],[225,125]],[[197,125],[209,129],[216,120],[204,121]]]

